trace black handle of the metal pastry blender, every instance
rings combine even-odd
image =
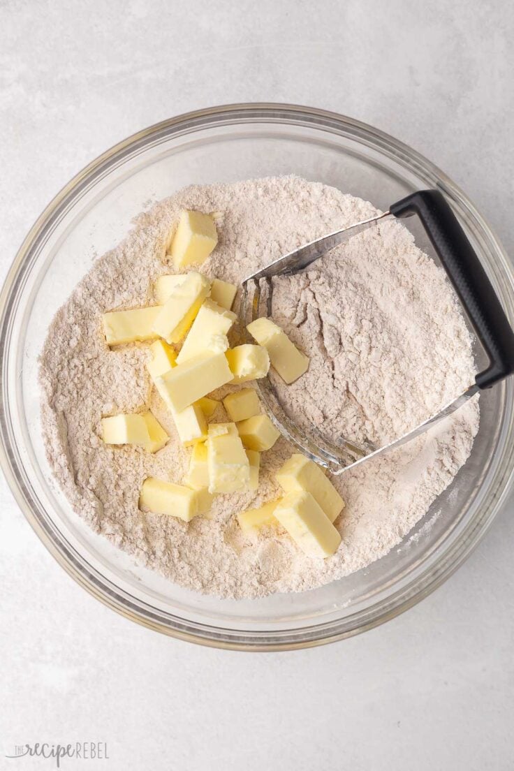
[[[390,209],[395,217],[418,214],[443,268],[459,295],[475,333],[489,357],[489,367],[475,382],[480,389],[514,372],[514,333],[479,258],[449,204],[438,190],[420,190]]]

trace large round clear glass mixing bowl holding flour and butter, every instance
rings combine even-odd
[[[46,329],[92,259],[116,245],[149,201],[190,183],[296,173],[382,209],[412,190],[448,198],[514,322],[512,268],[488,224],[432,163],[384,133],[334,113],[278,104],[200,110],[108,150],[52,200],[2,290],[2,466],[30,524],[62,567],[127,618],[220,648],[279,650],[338,640],[424,598],[468,556],[512,481],[512,382],[482,395],[472,455],[398,548],[303,594],[230,601],[195,594],[139,567],[72,512],[52,481],[39,419],[37,360]],[[428,250],[422,232],[418,244]],[[438,517],[433,515],[438,512]],[[428,520],[431,527],[423,527]]]

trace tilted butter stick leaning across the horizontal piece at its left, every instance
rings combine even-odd
[[[180,342],[210,291],[206,276],[192,271],[172,291],[153,322],[153,332],[166,342]]]

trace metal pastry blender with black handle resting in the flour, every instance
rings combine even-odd
[[[312,429],[307,436],[287,416],[269,378],[257,380],[257,391],[264,409],[277,429],[297,446],[304,455],[325,466],[331,473],[340,474],[369,458],[394,449],[424,433],[429,426],[451,415],[479,391],[490,388],[496,382],[514,372],[514,333],[500,305],[496,292],[485,274],[479,258],[465,236],[455,214],[438,190],[421,190],[392,204],[385,214],[371,217],[340,231],[317,238],[309,244],[285,254],[266,268],[248,276],[243,281],[240,315],[244,325],[261,315],[271,315],[271,298],[275,276],[291,275],[306,270],[328,251],[344,244],[354,235],[374,227],[393,217],[403,218],[417,214],[432,241],[435,251],[459,296],[476,336],[482,343],[489,365],[475,377],[475,382],[464,392],[428,417],[415,429],[382,447],[371,443],[359,446],[341,438],[338,444],[328,443],[321,433]]]

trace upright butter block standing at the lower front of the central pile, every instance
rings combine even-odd
[[[211,423],[207,436],[210,493],[235,493],[250,484],[250,462],[233,423]]]

